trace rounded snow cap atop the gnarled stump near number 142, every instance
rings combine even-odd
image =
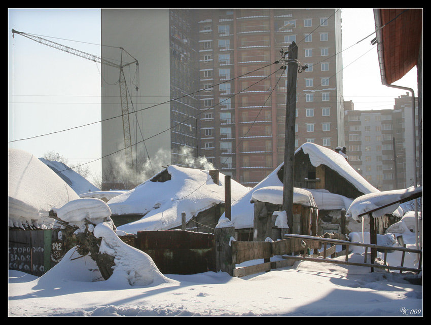
[[[52,208],[59,219],[67,222],[71,226],[78,226],[79,229],[75,233],[84,232],[86,230],[86,220],[92,224],[98,225],[105,221],[111,220],[111,209],[102,200],[96,198],[79,198],[67,202],[60,208]],[[88,229],[92,232],[93,229]]]

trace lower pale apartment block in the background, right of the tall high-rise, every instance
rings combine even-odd
[[[381,191],[412,186],[419,142],[416,136],[414,150],[411,97],[407,94],[395,98],[393,110],[354,111],[353,105],[350,108],[345,115],[350,165]],[[415,108],[417,121],[417,102]]]

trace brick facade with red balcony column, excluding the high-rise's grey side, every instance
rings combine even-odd
[[[341,19],[337,9],[199,10],[200,148],[225,174],[255,186],[284,159],[287,73],[298,61],[295,146],[344,143]],[[277,71],[278,70],[278,71]]]

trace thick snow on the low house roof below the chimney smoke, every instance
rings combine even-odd
[[[172,165],[167,168],[167,172],[171,179],[165,182],[148,179],[108,202],[113,215],[145,215],[138,221],[118,227],[118,230],[137,233],[141,230],[175,228],[181,226],[183,211],[186,212],[188,222],[200,211],[225,201],[225,179],[222,173],[219,173],[219,184],[214,184],[207,170]],[[231,180],[232,202],[246,191],[247,188]]]

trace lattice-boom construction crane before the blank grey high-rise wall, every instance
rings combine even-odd
[[[126,150],[126,157],[128,157],[128,162],[129,162],[130,166],[133,168],[132,143],[131,143],[131,137],[130,137],[130,122],[129,122],[129,100],[128,100],[128,96],[127,96],[127,86],[126,86],[126,79],[124,77],[123,68],[126,66],[129,66],[133,63],[136,63],[136,66],[137,66],[139,64],[138,61],[133,56],[131,56],[130,53],[128,53],[126,50],[124,50],[122,47],[120,47],[120,49],[121,49],[120,64],[117,64],[115,62],[111,62],[109,60],[102,59],[96,55],[88,54],[86,52],[76,50],[76,49],[70,48],[68,46],[61,45],[61,44],[43,39],[43,38],[38,37],[38,36],[34,36],[34,35],[27,34],[27,33],[21,32],[21,31],[17,31],[17,30],[12,28],[12,37],[14,37],[14,34],[22,35],[22,36],[24,36],[30,40],[36,41],[36,42],[41,43],[43,45],[53,47],[54,49],[58,49],[58,50],[61,50],[61,51],[64,51],[64,52],[67,52],[70,54],[74,54],[76,56],[82,57],[82,58],[87,59],[87,60],[94,61],[96,63],[113,66],[113,67],[116,67],[120,70],[120,76],[119,76],[118,83],[120,85],[121,116],[123,118],[124,147]],[[127,62],[127,63],[123,64],[123,51],[126,52],[128,55],[130,55],[130,57],[132,57],[134,59],[134,61]]]

